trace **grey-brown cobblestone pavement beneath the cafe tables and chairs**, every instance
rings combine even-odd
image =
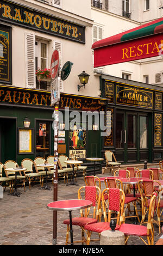
[[[79,186],[66,186],[62,180],[59,180],[58,200],[76,199],[79,187],[85,185],[83,177],[78,177],[77,181]],[[52,187],[52,182],[48,182],[48,185]],[[21,187],[18,191],[22,192],[20,197],[10,196],[9,188],[6,188],[3,199],[0,199],[0,245],[52,245],[53,211],[48,210],[46,206],[53,201],[53,187],[52,190],[40,190],[38,184],[29,190],[26,185],[26,192]],[[72,217],[77,215],[79,211],[72,212]],[[65,245],[66,225],[63,224],[65,218],[68,218],[68,212],[58,211],[57,245]],[[154,229],[156,242],[160,234],[155,224]],[[80,239],[80,235],[79,227],[73,226],[74,240]],[[93,237],[98,238],[98,234],[93,233]],[[90,244],[99,245],[99,241]],[[128,245],[144,245],[144,243],[137,237],[130,237]]]

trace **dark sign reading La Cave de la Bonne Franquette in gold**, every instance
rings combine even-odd
[[[116,103],[142,108],[153,108],[153,92],[144,88],[116,85]]]

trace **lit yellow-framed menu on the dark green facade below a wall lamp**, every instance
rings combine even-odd
[[[18,129],[18,153],[33,153],[33,129]]]

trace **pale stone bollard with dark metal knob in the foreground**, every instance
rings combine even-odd
[[[110,221],[111,230],[105,230],[100,236],[100,245],[125,245],[124,233],[115,230],[116,222],[115,220]]]

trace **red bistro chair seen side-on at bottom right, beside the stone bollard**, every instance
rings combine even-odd
[[[131,235],[139,236],[140,239],[145,243],[145,245],[154,245],[154,228],[153,228],[153,216],[155,208],[156,194],[153,193],[149,202],[149,214],[147,227],[143,225],[127,224],[122,223],[119,231],[124,233],[125,245]],[[142,238],[147,237],[148,243]]]

